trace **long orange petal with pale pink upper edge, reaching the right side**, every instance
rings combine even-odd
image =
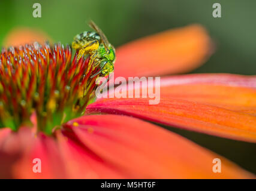
[[[106,98],[90,104],[87,110],[256,142],[255,79],[239,75],[162,78],[159,104],[149,104],[153,98]]]

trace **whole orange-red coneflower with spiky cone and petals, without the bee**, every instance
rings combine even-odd
[[[115,76],[186,72],[209,56],[209,45],[197,25],[140,39],[118,48]],[[164,77],[159,104],[149,105],[148,98],[88,104],[95,88],[89,61],[72,59],[70,47],[61,44],[2,51],[1,178],[255,178],[150,124],[255,143],[255,76]],[[212,171],[215,158],[221,159],[221,173]],[[32,170],[34,159],[41,160],[41,173]]]

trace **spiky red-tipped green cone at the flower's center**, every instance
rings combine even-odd
[[[97,88],[100,68],[91,57],[71,60],[69,45],[49,44],[2,48],[0,59],[0,127],[18,130],[37,116],[37,129],[56,127],[83,115]],[[92,76],[94,76],[92,78]]]

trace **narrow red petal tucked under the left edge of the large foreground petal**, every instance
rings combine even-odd
[[[124,178],[124,174],[88,149],[73,132],[58,131],[57,138],[67,178]]]

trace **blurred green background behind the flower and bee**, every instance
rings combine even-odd
[[[34,3],[41,4],[41,18],[34,18]],[[212,5],[221,4],[221,18],[212,17]],[[255,0],[73,0],[0,2],[0,44],[17,26],[44,30],[54,41],[70,43],[73,36],[97,23],[115,47],[172,27],[200,23],[209,31],[216,52],[192,73],[256,74]],[[172,129],[236,162],[256,174],[256,145],[189,131]]]

